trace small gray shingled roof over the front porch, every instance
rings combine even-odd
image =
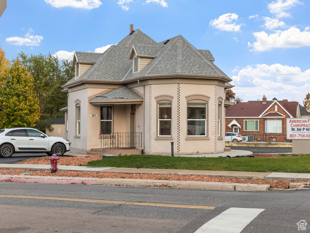
[[[95,100],[95,99],[140,99],[140,98],[143,98],[143,97],[141,97],[139,94],[137,94],[135,91],[133,91],[129,87],[122,86],[112,91],[109,91],[105,94],[102,94],[100,96],[96,96],[95,98],[92,98],[91,100]]]

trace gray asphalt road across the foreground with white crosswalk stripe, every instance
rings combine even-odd
[[[0,232],[299,232],[309,194],[0,182]]]

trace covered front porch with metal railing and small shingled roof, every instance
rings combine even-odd
[[[89,153],[98,154],[101,145],[104,153],[141,153],[143,98],[139,94],[127,86],[122,86],[89,99],[89,103],[91,108],[95,109],[94,112],[100,112],[100,122],[97,125],[99,143],[89,148]],[[135,150],[136,148],[139,149]],[[110,152],[107,152],[108,150]]]

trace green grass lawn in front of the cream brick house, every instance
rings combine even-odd
[[[125,155],[91,161],[91,167],[137,167],[213,171],[310,173],[310,156],[282,158],[190,158],[161,155]],[[307,166],[308,167],[307,167]]]

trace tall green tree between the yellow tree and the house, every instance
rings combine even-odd
[[[27,66],[33,78],[34,89],[38,94],[42,115],[37,123],[37,129],[45,131],[52,130],[51,120],[55,117],[63,117],[61,108],[67,106],[67,93],[63,93],[62,85],[74,76],[74,66],[72,62],[63,60],[60,64],[57,57],[49,55],[28,56],[20,53],[19,57],[24,66]],[[50,95],[47,95],[50,94]],[[55,96],[51,96],[55,95]]]

